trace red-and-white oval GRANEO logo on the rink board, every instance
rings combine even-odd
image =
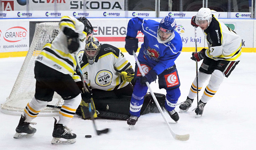
[[[7,42],[18,42],[22,39],[26,39],[27,37],[27,30],[24,27],[11,27],[8,30],[6,30],[5,35],[3,36],[3,39]]]

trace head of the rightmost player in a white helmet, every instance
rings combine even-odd
[[[209,8],[200,8],[199,11],[196,14],[196,24],[202,27],[207,27],[211,23],[211,9]],[[206,27],[206,28],[207,28]],[[206,29],[204,28],[204,30]]]

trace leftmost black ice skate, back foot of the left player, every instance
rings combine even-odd
[[[22,137],[31,137],[37,132],[37,129],[32,128],[30,124],[35,125],[37,123],[34,122],[24,122],[26,118],[24,115],[21,115],[21,119],[19,120],[19,125],[16,128],[16,133],[14,134],[13,138],[18,139]]]

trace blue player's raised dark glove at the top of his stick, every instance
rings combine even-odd
[[[130,36],[126,36],[125,38],[125,46],[124,48],[126,49],[126,51],[132,55],[132,52],[137,52],[138,49],[138,38],[133,38]]]

